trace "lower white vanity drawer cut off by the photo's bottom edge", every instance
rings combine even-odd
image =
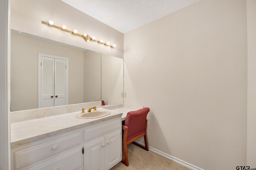
[[[77,170],[82,167],[81,147],[28,170]]]

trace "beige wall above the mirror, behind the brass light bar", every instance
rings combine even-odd
[[[81,37],[41,23],[49,20],[53,20],[54,24],[58,26],[66,25],[69,30],[77,29],[80,34],[86,32],[98,40],[109,41],[110,44],[116,44],[116,48],[112,49],[94,42],[86,43]],[[115,57],[123,58],[124,55],[123,33],[76,10],[61,0],[11,0],[10,28]]]

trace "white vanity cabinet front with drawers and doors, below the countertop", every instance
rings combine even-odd
[[[122,160],[121,116],[11,148],[12,170],[109,170]],[[56,132],[52,132],[56,133]]]

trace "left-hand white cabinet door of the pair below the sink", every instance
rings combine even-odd
[[[105,138],[84,145],[84,170],[105,170]]]

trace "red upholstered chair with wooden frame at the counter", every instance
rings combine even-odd
[[[123,132],[123,149],[124,149],[124,159],[122,159],[122,163],[126,166],[129,166],[128,162],[128,153],[127,153],[127,145],[133,143],[142,149],[148,151],[148,139],[147,139],[147,115],[149,112],[149,108],[145,107],[143,109],[139,109],[136,111],[130,111],[127,113],[124,125],[122,125]],[[145,147],[134,143],[137,139],[144,136]]]

